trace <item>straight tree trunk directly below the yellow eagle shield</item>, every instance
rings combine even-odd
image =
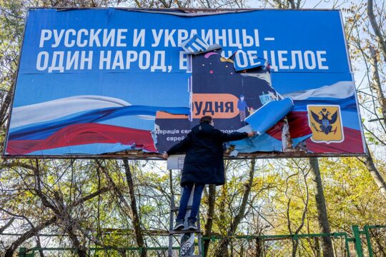
[[[328,223],[325,193],[323,191],[322,178],[320,178],[319,162],[316,157],[310,158],[312,181],[315,187],[315,200],[317,206],[317,219],[319,221],[320,233],[331,233]],[[334,257],[332,241],[330,236],[322,237],[322,248],[324,257]]]

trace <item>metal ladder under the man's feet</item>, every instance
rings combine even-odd
[[[180,252],[179,256],[181,257],[201,257],[202,256],[202,241],[201,241],[201,226],[199,223],[199,215],[197,218],[197,230],[191,231],[188,229],[182,229],[179,231],[173,230],[174,225],[174,214],[178,211],[178,206],[175,206],[174,204],[174,191],[172,190],[172,170],[170,170],[170,189],[172,193],[172,198],[170,201],[170,224],[169,224],[169,249],[168,249],[168,257],[177,257],[173,256],[173,236],[179,235],[180,236]],[[187,214],[185,216],[185,226],[187,226],[187,217],[189,217],[190,210],[192,209],[192,198],[193,198],[193,191],[194,187],[192,188],[192,192],[190,193],[190,198],[188,201],[187,206]],[[197,235],[197,241],[198,241],[198,255],[194,255],[194,249],[195,249],[195,235]]]

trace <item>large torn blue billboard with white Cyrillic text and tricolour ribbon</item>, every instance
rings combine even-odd
[[[228,153],[365,153],[340,11],[29,9],[3,155],[148,158],[201,116],[247,131],[281,99],[291,111]]]

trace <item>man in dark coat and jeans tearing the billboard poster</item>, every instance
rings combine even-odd
[[[181,178],[183,191],[179,203],[176,225],[173,230],[184,228],[187,202],[193,186],[194,195],[192,210],[188,218],[188,229],[197,230],[195,223],[197,221],[199,203],[205,184],[215,184],[219,186],[225,183],[223,143],[241,140],[248,136],[254,136],[254,132],[222,133],[222,131],[214,129],[211,116],[203,116],[199,121],[199,125],[194,126],[184,140],[172,146],[169,151],[164,153],[162,157],[168,158],[171,154],[186,152]]]

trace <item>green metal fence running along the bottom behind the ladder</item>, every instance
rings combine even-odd
[[[287,257],[312,256],[322,257],[323,242],[332,242],[334,256],[347,257],[386,257],[386,225],[352,226],[352,235],[348,233],[316,233],[292,235],[248,235],[248,236],[209,236],[202,237],[202,256],[258,256]],[[147,251],[147,256],[169,257],[168,247],[127,247],[127,248],[87,248],[87,256],[139,256]],[[76,256],[76,248],[19,248],[19,257],[40,256]],[[173,247],[172,257],[179,256],[179,247]]]

